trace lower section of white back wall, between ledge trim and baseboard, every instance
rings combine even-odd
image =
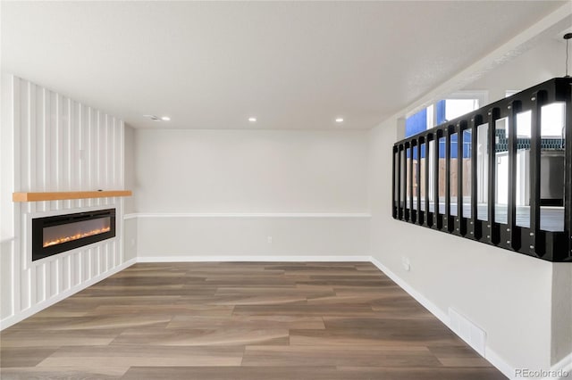
[[[367,215],[140,215],[138,257],[366,255]]]

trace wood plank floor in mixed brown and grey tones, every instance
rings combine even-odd
[[[136,264],[0,339],[3,380],[506,378],[361,262]]]

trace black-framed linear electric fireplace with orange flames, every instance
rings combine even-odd
[[[32,261],[115,236],[115,209],[32,219]]]

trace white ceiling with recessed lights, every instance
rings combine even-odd
[[[137,128],[373,128],[566,3],[2,2],[2,70]]]

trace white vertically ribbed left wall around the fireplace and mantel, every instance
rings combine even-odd
[[[84,104],[3,73],[2,327],[122,268],[122,200],[11,202],[13,192],[122,189],[123,123]],[[5,147],[13,146],[12,149]],[[29,220],[115,207],[117,236],[31,261]],[[9,276],[8,276],[9,274]]]

